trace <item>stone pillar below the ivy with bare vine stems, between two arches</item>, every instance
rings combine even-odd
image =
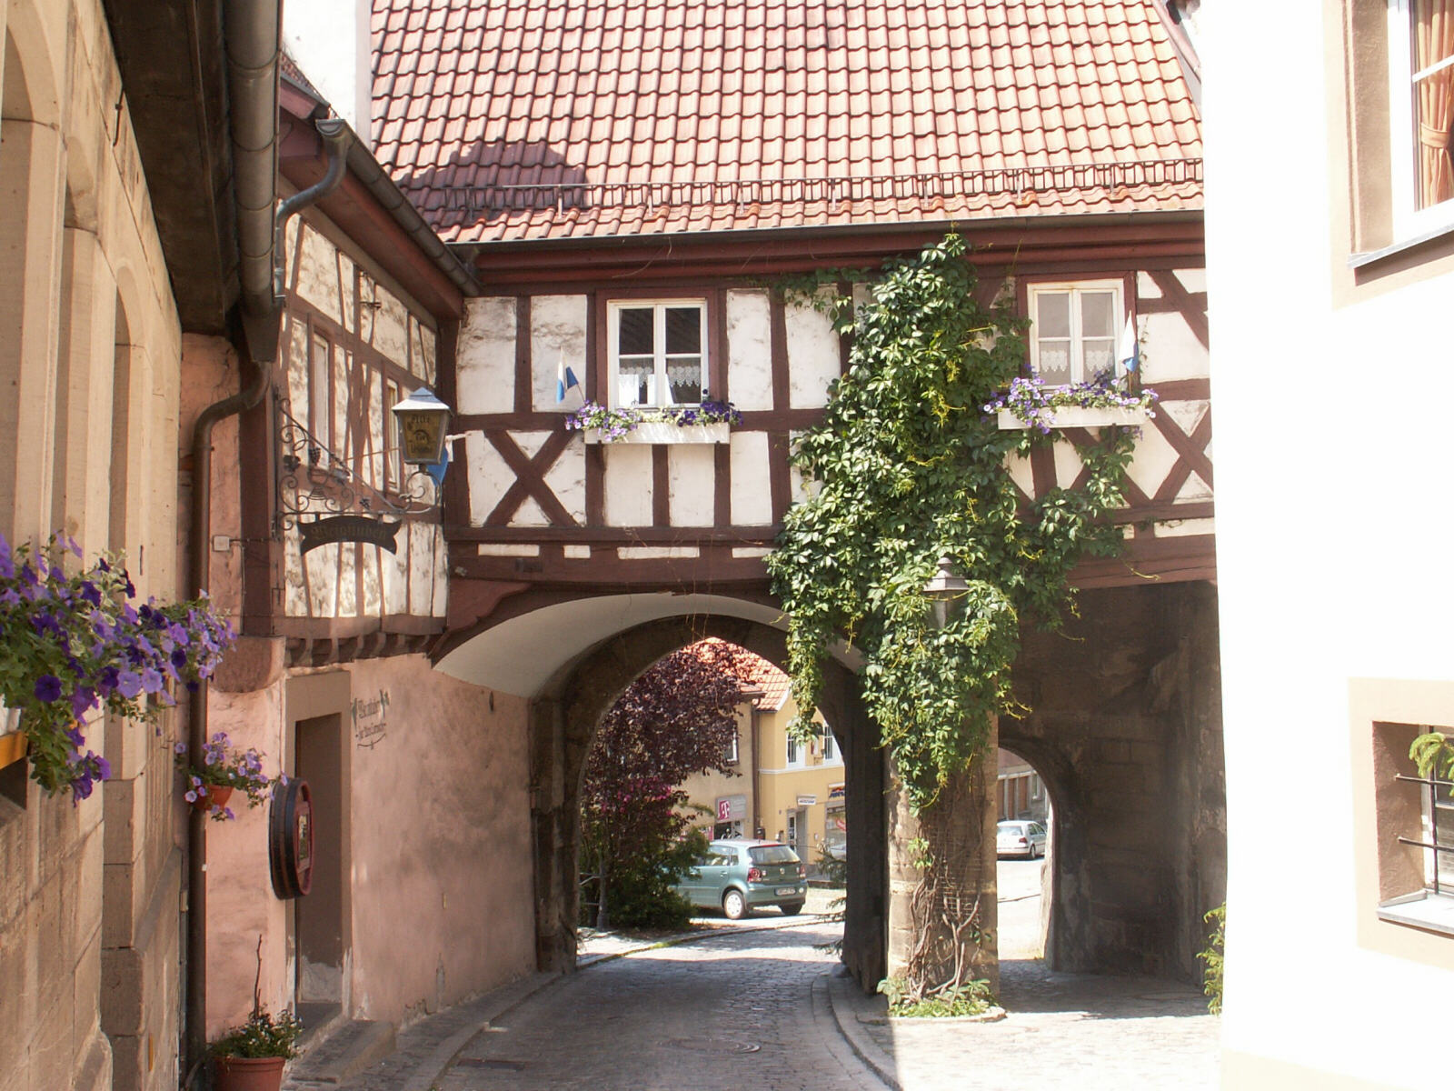
[[[999,992],[995,882],[997,726],[968,768],[913,815],[890,788],[888,975],[910,999],[986,979]]]

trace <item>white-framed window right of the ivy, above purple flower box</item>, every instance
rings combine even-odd
[[[1029,362],[1047,385],[1117,374],[1125,324],[1122,281],[1029,285]]]

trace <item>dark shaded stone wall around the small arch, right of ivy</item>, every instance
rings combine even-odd
[[[1054,807],[1045,959],[1200,980],[1201,915],[1226,898],[1216,589],[1083,592],[1079,612],[1027,630],[1015,688],[1032,711],[1000,720]]]

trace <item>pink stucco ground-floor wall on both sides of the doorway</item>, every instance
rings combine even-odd
[[[423,656],[340,668],[348,692],[388,694],[384,729],[359,745],[343,713],[349,783],[350,938],[345,994],[355,1018],[407,1023],[535,969],[525,701],[443,676]],[[337,681],[337,679],[336,679]],[[288,679],[212,691],[211,727],[292,765]],[[307,714],[317,714],[317,708]],[[262,995],[292,1001],[292,914],[273,896],[266,807],[212,823],[208,845],[208,1028]]]

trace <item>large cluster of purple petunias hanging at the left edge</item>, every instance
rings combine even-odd
[[[83,556],[64,534],[39,550],[0,537],[0,701],[20,714],[32,780],[76,803],[111,775],[86,745],[86,717],[156,720],[177,684],[209,678],[234,640],[205,599],[135,605],[119,554],[89,567]]]

